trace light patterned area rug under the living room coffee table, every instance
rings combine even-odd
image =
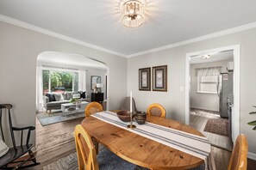
[[[78,112],[78,113],[74,113],[74,114],[71,114],[68,116],[63,116],[62,112],[55,112],[55,113],[42,112],[42,113],[38,113],[36,115],[36,117],[40,121],[41,125],[45,126],[45,125],[49,125],[49,124],[56,124],[59,122],[72,120],[75,118],[83,118],[84,112]]]

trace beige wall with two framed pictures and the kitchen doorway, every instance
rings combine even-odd
[[[152,52],[136,58],[128,59],[128,91],[133,90],[136,105],[140,110],[146,110],[153,102],[165,106],[167,118],[185,120],[185,56],[186,53],[199,52],[222,46],[240,44],[240,132],[245,133],[249,142],[249,151],[256,153],[256,131],[247,122],[256,119],[249,115],[256,105],[256,28],[225,35],[215,39],[203,40],[187,46]],[[138,89],[138,69],[156,65],[168,65],[168,92],[145,92]],[[234,96],[235,97],[235,96]]]

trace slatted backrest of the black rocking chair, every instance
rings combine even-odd
[[[12,105],[10,104],[1,104],[0,105],[0,131],[1,131],[1,137],[3,138],[3,142],[5,142],[5,138],[3,135],[3,123],[2,123],[2,118],[3,118],[3,110],[7,109],[8,110],[8,119],[9,119],[9,131],[10,131],[10,136],[12,139],[12,144],[13,147],[16,149],[16,139],[13,131],[13,125],[11,121],[11,115],[10,115],[10,109],[12,108]]]

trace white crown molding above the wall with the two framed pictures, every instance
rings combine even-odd
[[[147,50],[147,51],[144,51],[144,52],[134,53],[134,54],[128,55],[127,57],[128,58],[134,58],[134,57],[137,57],[137,56],[140,56],[140,55],[143,55],[143,54],[148,54],[148,53],[151,53],[151,52],[159,52],[159,51],[162,51],[162,50],[166,50],[166,49],[170,49],[170,48],[174,48],[174,47],[178,47],[178,46],[189,45],[189,44],[196,43],[196,42],[199,42],[199,41],[203,41],[203,40],[207,40],[207,39],[213,39],[213,38],[216,38],[216,37],[221,37],[223,35],[228,35],[228,34],[231,34],[231,33],[239,33],[241,31],[245,31],[247,29],[252,29],[252,28],[255,28],[255,27],[256,27],[256,22],[253,22],[253,23],[249,23],[247,25],[243,25],[243,26],[239,26],[239,27],[233,27],[233,28],[226,29],[226,30],[223,30],[223,31],[220,31],[220,32],[209,33],[207,35],[203,35],[203,36],[200,36],[200,37],[197,37],[197,38],[194,38],[194,39],[184,40],[184,41],[174,43],[174,44],[171,44],[171,45],[160,46],[158,48],[153,48],[151,50]]]

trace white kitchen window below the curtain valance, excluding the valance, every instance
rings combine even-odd
[[[197,76],[197,92],[213,93],[218,92],[219,76]]]

